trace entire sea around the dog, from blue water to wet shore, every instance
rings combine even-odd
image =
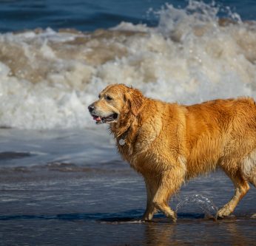
[[[256,99],[256,1],[1,0],[0,245],[256,245],[256,189],[232,216],[218,170],[141,222],[143,177],[87,106],[112,83],[201,103]]]

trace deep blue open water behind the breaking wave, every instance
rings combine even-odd
[[[181,8],[188,4],[188,1],[183,0],[0,1],[0,32],[31,30],[38,27],[92,31],[98,28],[114,27],[121,21],[155,26],[158,23],[158,16],[149,10],[158,11],[166,2]],[[226,7],[229,7],[243,20],[256,19],[255,0],[225,0],[215,1],[215,4],[220,6],[220,16],[226,16]]]

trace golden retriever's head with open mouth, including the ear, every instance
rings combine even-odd
[[[107,86],[88,109],[96,123],[117,123],[121,115],[137,116],[143,102],[144,96],[138,89],[114,84]]]

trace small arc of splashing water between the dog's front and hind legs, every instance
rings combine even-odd
[[[178,213],[178,210],[181,210],[181,208],[185,208],[186,206],[189,206],[189,208],[193,209],[200,209],[200,212],[204,213],[204,217],[206,218],[213,218],[215,217],[215,214],[218,211],[218,208],[214,205],[211,199],[208,197],[204,197],[201,194],[194,194],[191,196],[185,197],[185,199],[181,200],[181,202],[178,202],[178,205],[176,207],[176,213]]]

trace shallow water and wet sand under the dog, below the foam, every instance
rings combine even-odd
[[[173,223],[140,222],[142,177],[97,129],[0,130],[0,245],[255,245],[255,188],[234,216],[213,218],[233,194],[220,171],[172,198]]]

